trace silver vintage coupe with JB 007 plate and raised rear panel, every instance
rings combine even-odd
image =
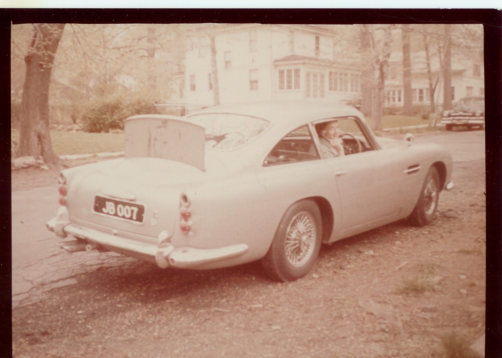
[[[338,121],[344,156],[319,136]],[[427,225],[452,187],[436,144],[376,138],[345,105],[267,102],[186,117],[134,116],[124,158],[65,169],[47,223],[69,252],[111,250],[205,270],[261,260],[279,281],[306,275],[321,243],[409,218]]]

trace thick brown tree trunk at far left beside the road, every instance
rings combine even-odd
[[[51,168],[59,167],[60,158],[52,149],[49,133],[49,86],[54,57],[65,24],[35,24],[30,47],[25,56],[26,75],[21,103],[19,145],[16,157],[43,158]]]

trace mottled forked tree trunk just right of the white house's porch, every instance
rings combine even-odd
[[[369,35],[373,54],[373,101],[371,105],[371,122],[374,131],[381,131],[382,111],[384,104],[385,80],[389,70],[391,57],[392,28],[394,25],[364,25]]]

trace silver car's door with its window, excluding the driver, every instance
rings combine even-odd
[[[401,181],[406,159],[375,148],[357,118],[337,121],[345,133],[342,139],[346,153],[323,161],[336,181],[341,206],[339,235],[346,237],[397,218],[403,207],[405,188]]]

